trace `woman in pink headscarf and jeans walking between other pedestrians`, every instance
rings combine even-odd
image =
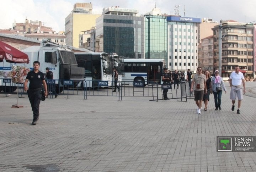
[[[219,71],[216,70],[214,72],[215,77],[212,78],[212,89],[213,89],[213,95],[214,95],[214,103],[215,103],[215,111],[218,109],[221,110],[221,96],[222,96],[222,90],[226,93],[226,87],[222,81],[222,77],[219,76]],[[221,91],[217,91],[216,88],[222,88]]]

